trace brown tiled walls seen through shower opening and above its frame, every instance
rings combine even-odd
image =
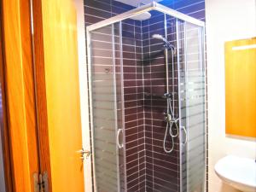
[[[164,0],[162,4],[205,20],[204,0]],[[113,0],[84,0],[85,26],[130,9],[133,8]],[[177,141],[172,154],[166,154],[162,147],[166,131],[163,120],[166,100],[160,98],[166,92],[163,46],[159,40],[151,38],[154,33],[164,35],[164,16],[152,14],[147,21],[125,20],[122,23],[127,190],[177,192]],[[175,25],[172,25],[172,18],[167,19],[168,40],[176,44],[173,41]],[[175,70],[177,72],[177,68]],[[169,73],[172,74],[172,67]],[[169,80],[172,84],[172,75]]]

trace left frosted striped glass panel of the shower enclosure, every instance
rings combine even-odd
[[[90,32],[90,51],[94,189],[98,192],[119,191],[120,169],[124,172],[119,25]]]

